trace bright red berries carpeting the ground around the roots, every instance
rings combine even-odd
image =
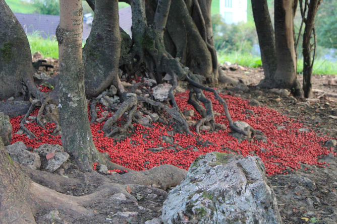
[[[217,123],[228,126],[228,120],[223,113],[220,105],[213,95],[205,93],[212,101],[213,110],[220,113],[215,116]],[[302,123],[278,113],[273,109],[262,106],[250,106],[247,100],[229,95],[220,95],[223,97],[229,107],[234,121],[241,120],[250,124],[254,129],[261,130],[267,140],[265,142],[253,139],[252,141],[244,140],[239,142],[231,136],[230,128],[219,130],[217,132],[202,131],[197,134],[192,128],[194,134],[170,134],[171,126],[163,126],[161,123],[153,123],[153,127],[144,127],[134,123],[134,131],[130,137],[124,140],[115,141],[114,138],[104,136],[101,131],[104,122],[90,124],[93,140],[96,148],[101,153],[108,153],[111,162],[122,165],[129,169],[141,171],[150,169],[162,164],[171,164],[182,169],[188,169],[191,163],[202,154],[217,151],[222,153],[240,154],[243,156],[258,156],[266,167],[268,176],[275,174],[287,174],[290,171],[297,170],[301,163],[316,165],[324,168],[325,163],[319,162],[319,158],[332,153],[323,143],[329,137],[320,137],[313,130],[300,132],[299,128],[303,127]],[[188,92],[178,94],[176,101],[182,111],[193,109],[187,104]],[[104,106],[98,104],[98,118],[101,112],[106,110]],[[255,115],[248,113],[246,110],[253,111]],[[37,110],[32,113],[36,116]],[[111,114],[109,115],[111,116]],[[29,139],[25,134],[16,134],[19,130],[19,121],[21,116],[11,119],[13,125],[13,140],[24,141],[29,147],[35,148],[43,143],[62,144],[60,136],[53,136],[51,132],[55,125],[47,123],[46,129],[37,126],[36,122],[26,124],[36,136],[36,139]],[[193,120],[201,119],[196,112]],[[120,119],[119,122],[123,122]],[[119,123],[119,125],[122,125]],[[283,128],[277,128],[284,126]],[[170,136],[173,142],[166,142],[162,136]],[[150,151],[149,148],[162,147],[161,151]],[[94,164],[94,169],[97,164]],[[126,171],[116,171],[125,173]]]

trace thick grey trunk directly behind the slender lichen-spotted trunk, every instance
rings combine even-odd
[[[92,29],[83,48],[86,96],[98,96],[110,85],[124,92],[118,77],[120,52],[118,0],[96,1]]]

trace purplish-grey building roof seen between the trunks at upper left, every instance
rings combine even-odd
[[[60,23],[60,16],[15,13],[26,34],[39,32],[43,38],[55,35],[56,28]],[[119,10],[120,27],[131,36],[131,7]],[[91,26],[83,24],[82,39],[86,40],[90,34]]]

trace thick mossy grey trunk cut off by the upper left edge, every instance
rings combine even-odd
[[[27,94],[22,81],[29,94],[40,97],[41,92],[33,80],[34,68],[27,36],[4,0],[0,0],[0,68],[0,100]]]

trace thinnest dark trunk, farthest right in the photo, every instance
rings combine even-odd
[[[312,76],[313,61],[311,59],[310,40],[312,31],[314,29],[315,16],[317,14],[320,2],[321,2],[320,0],[311,0],[309,2],[307,18],[304,19],[305,28],[303,33],[302,52],[303,52],[303,91],[305,98],[312,98],[311,76]],[[305,1],[305,4],[307,4],[307,1]]]

